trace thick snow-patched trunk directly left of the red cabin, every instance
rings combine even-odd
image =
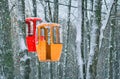
[[[9,6],[15,5],[14,9],[11,11],[11,34],[12,34],[12,47],[13,47],[13,53],[14,53],[14,78],[18,79],[29,79],[29,74],[31,71],[30,68],[30,57],[28,57],[28,51],[25,45],[24,37],[23,37],[23,30],[22,27],[24,27],[24,19],[25,19],[25,10],[24,1],[11,1],[9,2]],[[16,4],[15,4],[16,3]],[[18,16],[18,17],[16,17]],[[23,17],[24,16],[24,17]],[[19,74],[18,74],[19,73]]]

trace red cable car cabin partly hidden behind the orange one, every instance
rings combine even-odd
[[[37,21],[42,21],[41,18],[29,17],[25,19],[26,24],[28,25],[27,34],[26,34],[26,44],[28,52],[36,52],[36,24]]]

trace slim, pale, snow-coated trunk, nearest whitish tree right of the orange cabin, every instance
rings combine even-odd
[[[84,79],[83,78],[83,58],[82,58],[82,52],[81,52],[81,42],[82,42],[82,1],[78,0],[78,25],[76,26],[76,53],[77,53],[77,60],[78,60],[78,66],[79,66],[79,76],[78,79]]]

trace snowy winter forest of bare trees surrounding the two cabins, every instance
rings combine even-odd
[[[58,62],[28,52],[27,17],[60,24]],[[120,0],[0,0],[0,79],[120,79]]]

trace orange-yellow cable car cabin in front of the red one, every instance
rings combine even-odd
[[[62,52],[59,26],[56,23],[41,23],[37,26],[36,51],[39,61],[59,61]]]

